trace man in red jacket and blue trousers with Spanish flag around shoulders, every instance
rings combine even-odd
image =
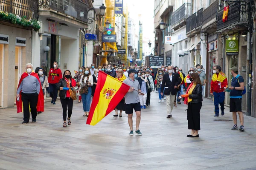
[[[214,117],[219,116],[219,104],[221,105],[221,115],[224,115],[224,100],[225,100],[225,88],[227,88],[227,77],[221,71],[221,66],[216,65],[213,68],[212,82],[210,93],[213,95],[214,99]]]

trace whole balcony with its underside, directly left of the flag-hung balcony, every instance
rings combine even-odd
[[[203,11],[202,31],[211,34],[217,30],[217,11],[218,11],[217,0],[215,0],[208,8],[206,8]]]

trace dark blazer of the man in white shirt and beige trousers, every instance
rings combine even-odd
[[[174,86],[175,85],[178,86],[180,82],[181,82],[181,78],[179,74],[172,73],[172,82],[169,78],[169,74],[168,73],[164,74],[163,82],[161,85],[161,93],[163,93],[163,89],[164,89],[164,95],[170,95],[170,94],[175,95],[177,93],[177,88],[174,88]]]

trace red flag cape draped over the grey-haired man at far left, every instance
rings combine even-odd
[[[36,74],[34,71],[32,71],[32,73],[30,75],[36,77],[38,79],[38,82],[40,82],[38,74]],[[24,78],[26,78],[27,76],[29,76],[29,74],[27,74],[26,72],[21,75],[18,88],[20,87],[20,83],[22,82],[22,80]],[[38,112],[43,112],[44,111],[44,94],[43,94],[43,91],[42,91],[41,83],[39,83],[39,84],[40,84],[40,92],[39,92],[39,95],[38,95],[38,104],[36,106],[36,110]],[[16,99],[17,113],[23,112],[22,111],[22,100],[21,100],[21,97],[22,96],[21,96],[21,91],[20,91],[20,100],[17,101],[17,99]]]

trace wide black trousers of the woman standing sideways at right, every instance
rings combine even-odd
[[[188,120],[189,129],[200,130],[201,108],[202,108],[202,102],[188,103],[187,120]]]

